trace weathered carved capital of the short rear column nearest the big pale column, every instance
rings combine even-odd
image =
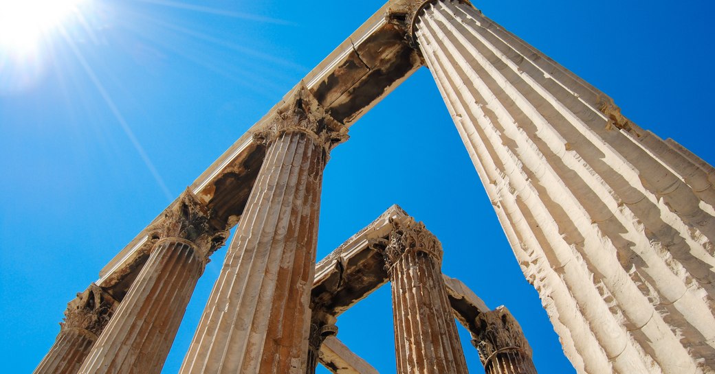
[[[531,347],[521,326],[504,306],[481,313],[475,321],[478,331],[474,344],[482,363],[487,363],[497,353],[520,351],[531,358]]]

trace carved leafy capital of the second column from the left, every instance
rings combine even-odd
[[[229,236],[226,227],[212,225],[210,211],[189,189],[167,208],[162,218],[149,227],[152,243],[166,238],[179,238],[193,243],[204,258],[221,248]]]

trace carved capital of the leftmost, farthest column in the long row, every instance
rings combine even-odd
[[[73,328],[87,330],[97,337],[109,323],[117,305],[119,305],[117,300],[92,283],[87,290],[77,293],[77,298],[67,303],[64,321],[60,323],[61,329],[63,331]]]

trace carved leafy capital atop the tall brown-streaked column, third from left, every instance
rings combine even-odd
[[[254,133],[255,141],[271,143],[284,133],[305,133],[330,152],[347,141],[347,126],[332,118],[312,93],[301,86],[277,109],[268,126]]]

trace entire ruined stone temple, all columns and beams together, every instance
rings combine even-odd
[[[576,372],[715,373],[715,169],[465,0],[388,1],[70,301],[35,373],[159,373],[237,226],[180,374],[377,373],[337,319],[387,283],[398,373],[467,373],[456,319],[486,373],[536,374],[398,206],[316,263],[330,151],[422,66]]]

